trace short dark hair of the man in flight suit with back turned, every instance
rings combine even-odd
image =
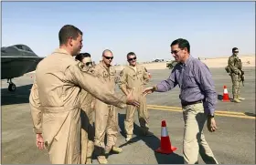
[[[61,27],[59,30],[59,45],[67,44],[70,36],[77,39],[79,34],[82,35],[82,32],[76,26],[66,25]]]

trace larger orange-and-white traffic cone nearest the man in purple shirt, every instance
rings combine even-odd
[[[161,130],[161,146],[156,152],[170,154],[173,153],[177,148],[172,146],[171,140],[168,135],[168,131],[166,129],[165,120],[162,121],[162,130]]]

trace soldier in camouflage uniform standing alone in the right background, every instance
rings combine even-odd
[[[232,80],[232,94],[233,94],[233,101],[236,103],[240,103],[240,100],[245,98],[240,98],[240,87],[241,87],[241,77],[243,76],[244,72],[242,70],[242,63],[240,61],[239,49],[237,47],[232,48],[232,56],[229,57],[228,67],[230,70],[230,77]]]

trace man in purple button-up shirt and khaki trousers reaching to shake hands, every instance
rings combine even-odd
[[[197,164],[200,153],[207,164],[218,164],[203,133],[206,120],[210,132],[217,129],[214,119],[217,94],[211,74],[204,63],[190,55],[190,45],[186,39],[179,38],[173,41],[171,51],[178,64],[170,77],[153,88],[146,88],[144,94],[154,91],[167,92],[178,85],[185,121],[184,163]]]

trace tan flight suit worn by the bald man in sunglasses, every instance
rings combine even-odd
[[[108,90],[114,92],[116,82],[116,70],[113,67],[106,67],[103,62],[95,67],[97,77],[108,86]],[[105,146],[104,139],[107,135],[107,144]],[[94,144],[99,148],[97,155],[103,157],[103,149],[112,149],[115,145],[118,135],[118,117],[116,108],[112,105],[103,103],[99,99],[95,99],[95,141]],[[95,150],[96,151],[96,150]],[[103,159],[103,158],[102,158]]]

